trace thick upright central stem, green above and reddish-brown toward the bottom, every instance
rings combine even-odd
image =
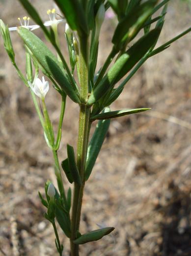
[[[79,256],[79,245],[73,243],[77,238],[77,231],[80,226],[82,197],[84,188],[84,173],[85,163],[87,155],[87,145],[89,138],[90,127],[90,108],[86,107],[84,103],[88,99],[88,38],[82,37],[80,45],[79,55],[79,67],[80,67],[80,85],[81,85],[81,101],[80,114],[79,114],[79,136],[78,136],[78,148],[77,148],[77,165],[80,172],[82,185],[74,183],[74,197],[72,208],[72,221],[71,221],[71,239],[70,248],[71,256]]]

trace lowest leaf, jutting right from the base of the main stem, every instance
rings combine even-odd
[[[100,228],[100,229],[83,234],[73,242],[74,244],[82,245],[87,242],[97,241],[97,240],[100,240],[103,236],[108,235],[113,230],[114,230],[114,227]]]

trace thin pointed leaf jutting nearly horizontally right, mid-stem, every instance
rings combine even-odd
[[[116,117],[120,117],[123,115],[129,115],[129,114],[143,112],[146,110],[150,110],[150,108],[109,111],[106,113],[94,115],[93,117],[91,117],[91,121],[94,121],[96,119],[104,120],[104,119],[116,118]]]

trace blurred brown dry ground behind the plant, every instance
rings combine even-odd
[[[46,11],[55,7],[53,1],[31,2],[48,20]],[[17,18],[26,16],[15,0],[0,0],[0,10],[0,18],[9,27],[18,26]],[[112,47],[115,25],[113,18],[103,24],[98,68]],[[172,0],[158,44],[190,26],[190,1]],[[67,55],[61,24],[59,33]],[[40,30],[35,34],[44,40]],[[24,72],[23,44],[16,32],[11,38],[16,62]],[[46,102],[56,128],[60,98],[53,88]],[[111,121],[86,183],[81,232],[98,225],[115,230],[100,241],[83,245],[82,256],[191,255],[191,34],[149,59],[111,109],[141,107],[152,110]],[[78,106],[67,99],[60,161],[66,157],[66,143],[76,147],[78,114]],[[37,193],[44,194],[47,179],[56,184],[52,153],[30,94],[0,38],[0,255],[56,255],[53,229],[43,217],[45,208]],[[68,256],[68,239],[61,230],[59,233],[63,255]]]

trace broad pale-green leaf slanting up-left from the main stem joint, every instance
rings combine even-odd
[[[46,44],[26,28],[20,27],[18,33],[40,66],[55,79],[71,100],[80,103],[78,92],[70,84],[66,71]]]

